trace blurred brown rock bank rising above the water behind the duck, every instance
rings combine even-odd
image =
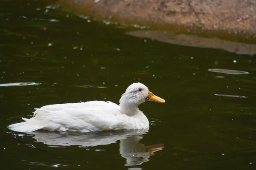
[[[194,26],[256,34],[255,0],[58,0],[76,13],[148,26]],[[217,23],[217,24],[216,24]]]

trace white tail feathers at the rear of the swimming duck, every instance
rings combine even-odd
[[[38,125],[38,121],[31,119],[22,118],[26,122],[20,122],[15,123],[12,125],[7,126],[10,130],[16,131],[16,132],[33,132],[35,130],[39,130],[43,128],[44,126]]]

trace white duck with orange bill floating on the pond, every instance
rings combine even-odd
[[[91,132],[102,130],[134,130],[149,127],[147,117],[138,105],[148,101],[164,103],[142,83],[130,85],[119,100],[119,105],[105,101],[46,105],[35,109],[31,119],[9,125],[17,132],[35,130]]]

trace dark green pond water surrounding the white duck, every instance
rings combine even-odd
[[[0,20],[1,169],[255,169],[255,56],[131,37],[130,28],[44,1],[2,1]],[[2,85],[14,82],[38,85]],[[140,106],[148,131],[38,131],[15,139],[6,128],[44,105],[117,103],[133,82],[166,100]],[[154,144],[164,147],[152,155]]]

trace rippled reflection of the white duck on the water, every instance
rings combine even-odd
[[[84,147],[93,147],[97,145],[106,145],[120,141],[119,151],[126,159],[126,166],[140,165],[149,161],[149,157],[154,152],[162,150],[164,144],[154,144],[145,146],[139,141],[148,133],[148,130],[118,130],[109,132],[93,133],[70,133],[70,132],[32,132],[36,142],[43,142],[48,145],[71,146],[79,145]]]

